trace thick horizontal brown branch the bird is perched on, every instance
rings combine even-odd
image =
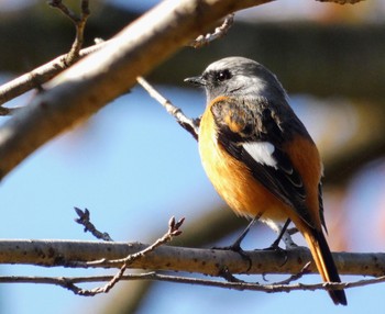
[[[46,267],[119,268],[118,260],[141,251],[140,243],[106,243],[74,240],[1,240],[0,263],[38,265]],[[218,276],[227,268],[231,273],[298,273],[311,260],[308,249],[299,247],[287,253],[248,251],[249,261],[237,253],[162,246],[130,263],[130,268],[174,270]],[[334,253],[341,274],[384,276],[385,254]],[[286,262],[285,262],[286,260]],[[309,271],[317,272],[311,265]]]

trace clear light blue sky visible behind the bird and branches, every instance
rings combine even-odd
[[[190,116],[198,116],[204,110],[201,91],[161,89]],[[301,102],[299,98],[296,110],[307,123],[309,109]],[[312,130],[318,127],[310,127],[316,133]],[[370,171],[352,183],[353,191],[361,189],[360,199],[375,195],[367,188],[373,176]],[[90,209],[92,221],[116,240],[146,243],[163,234],[172,215],[185,216],[188,225],[207,204],[220,202],[201,169],[196,142],[160,104],[135,88],[84,126],[46,144],[3,180],[0,237],[92,239],[73,222],[73,206],[79,206]],[[351,202],[359,210],[364,205]],[[251,235],[245,245],[264,247],[264,242]],[[9,276],[85,274],[84,270],[26,266],[1,266],[0,271]],[[306,278],[309,282],[318,280],[316,276]],[[0,285],[3,313],[15,314],[86,310],[102,313],[97,309],[102,309],[101,304],[110,302],[117,292],[118,289],[108,295],[81,298],[51,285]],[[140,313],[243,313],[251,307],[272,313],[292,310],[308,313],[317,309],[328,313],[362,313],[378,309],[382,294],[383,285],[348,290],[350,306],[342,309],[334,306],[324,292],[264,294],[165,283],[155,285]]]

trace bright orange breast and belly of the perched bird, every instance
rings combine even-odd
[[[200,122],[199,153],[207,176],[229,206],[239,215],[285,221],[292,211],[254,179],[243,162],[218,144],[215,121],[207,110]]]

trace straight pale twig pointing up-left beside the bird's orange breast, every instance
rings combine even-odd
[[[154,98],[158,103],[161,103],[166,111],[173,115],[179,125],[189,132],[195,139],[198,139],[199,134],[199,119],[189,119],[183,111],[175,106],[168,99],[164,98],[153,86],[151,86],[143,77],[138,77],[136,81],[148,92],[148,94]]]

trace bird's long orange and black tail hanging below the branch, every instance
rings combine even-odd
[[[331,256],[328,243],[322,231],[307,229],[302,233],[305,239],[309,244],[312,258],[317,269],[320,272],[324,282],[341,282],[337,267]],[[343,290],[329,290],[330,298],[334,304],[346,305],[346,296]]]

